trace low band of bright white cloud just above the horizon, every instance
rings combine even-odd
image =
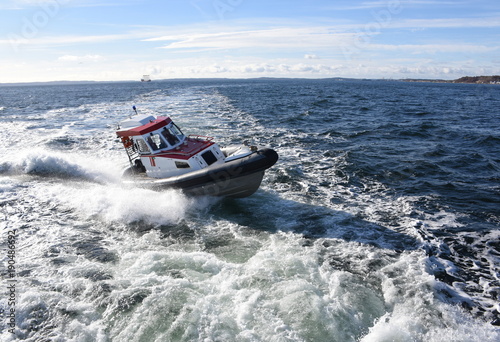
[[[166,78],[251,78],[251,77],[356,77],[356,78],[445,78],[466,74],[499,74],[500,66],[477,60],[436,62],[427,58],[387,58],[383,62],[371,56],[354,61],[344,59],[191,57],[141,61],[130,58],[104,58],[101,55],[64,55],[52,61],[0,64],[2,82],[95,80],[140,80],[149,74],[154,80]],[[102,59],[101,59],[102,58]]]

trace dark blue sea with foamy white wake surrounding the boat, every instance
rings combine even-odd
[[[280,155],[244,199],[125,187],[116,125]],[[500,87],[0,87],[2,341],[500,340]]]

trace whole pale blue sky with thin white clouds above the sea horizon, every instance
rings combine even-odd
[[[0,83],[500,74],[498,0],[1,0]]]

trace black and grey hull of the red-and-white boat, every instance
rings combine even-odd
[[[182,189],[193,196],[242,198],[257,191],[264,171],[277,160],[278,154],[274,150],[262,149],[224,164],[163,179],[147,177],[144,173],[134,172],[134,167],[131,167],[125,171],[124,182],[153,190]]]

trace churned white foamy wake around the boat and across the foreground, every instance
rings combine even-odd
[[[207,103],[224,102],[220,95],[214,99],[199,93],[193,91],[181,101],[182,109],[194,114],[180,122],[192,123],[194,129],[206,125],[202,109]],[[151,95],[151,108],[170,103],[173,112],[174,98]],[[230,104],[223,106],[231,109]],[[107,109],[94,118],[99,110],[86,115],[86,124],[99,127],[100,120],[111,122]],[[214,125],[219,120],[226,120],[227,127],[232,124],[224,117],[210,120]],[[257,124],[252,127],[265,131]],[[345,162],[343,158],[318,162],[311,151],[285,147],[281,166],[275,169],[296,171],[297,187],[284,183],[279,189],[271,184],[272,195],[260,192],[238,200],[228,205],[234,205],[235,213],[225,218],[205,210],[213,203],[206,199],[190,199],[173,190],[121,187],[114,161],[125,159],[124,154],[95,150],[109,143],[103,141],[89,142],[87,153],[39,150],[0,163],[13,173],[2,178],[0,191],[10,200],[5,206],[17,210],[9,223],[24,234],[19,261],[23,270],[31,272],[20,278],[21,332],[27,334],[29,313],[36,307],[50,313],[44,321],[47,328],[32,333],[28,341],[48,337],[117,342],[500,339],[498,328],[455,306],[458,298],[447,301],[439,295],[444,285],[426,270],[422,250],[413,245],[404,248],[402,243],[404,251],[396,252],[393,241],[383,235],[394,237],[393,229],[417,240],[417,223],[424,228],[454,227],[457,217],[445,211],[434,216],[416,213],[412,198],[395,197],[381,184],[365,188],[339,184],[342,180],[334,168]],[[305,161],[301,167],[294,166],[296,157]],[[18,187],[17,179],[29,178],[18,175],[33,174],[47,176],[48,181],[38,179],[30,183],[32,187]],[[335,186],[322,187],[319,183],[325,179]],[[309,193],[314,187],[318,190]],[[332,196],[339,201],[330,203]],[[239,221],[245,215],[249,217]],[[137,233],[129,229],[134,222],[180,230],[186,226],[194,236],[174,241],[160,229]],[[309,222],[325,229],[321,238],[303,239],[299,232],[308,229]],[[279,229],[287,232],[275,232]],[[116,259],[89,259],[85,251],[75,250],[81,241],[88,241],[90,248],[93,244],[105,248]],[[89,278],[88,274],[100,271],[109,276]],[[4,333],[1,338],[16,337]]]

